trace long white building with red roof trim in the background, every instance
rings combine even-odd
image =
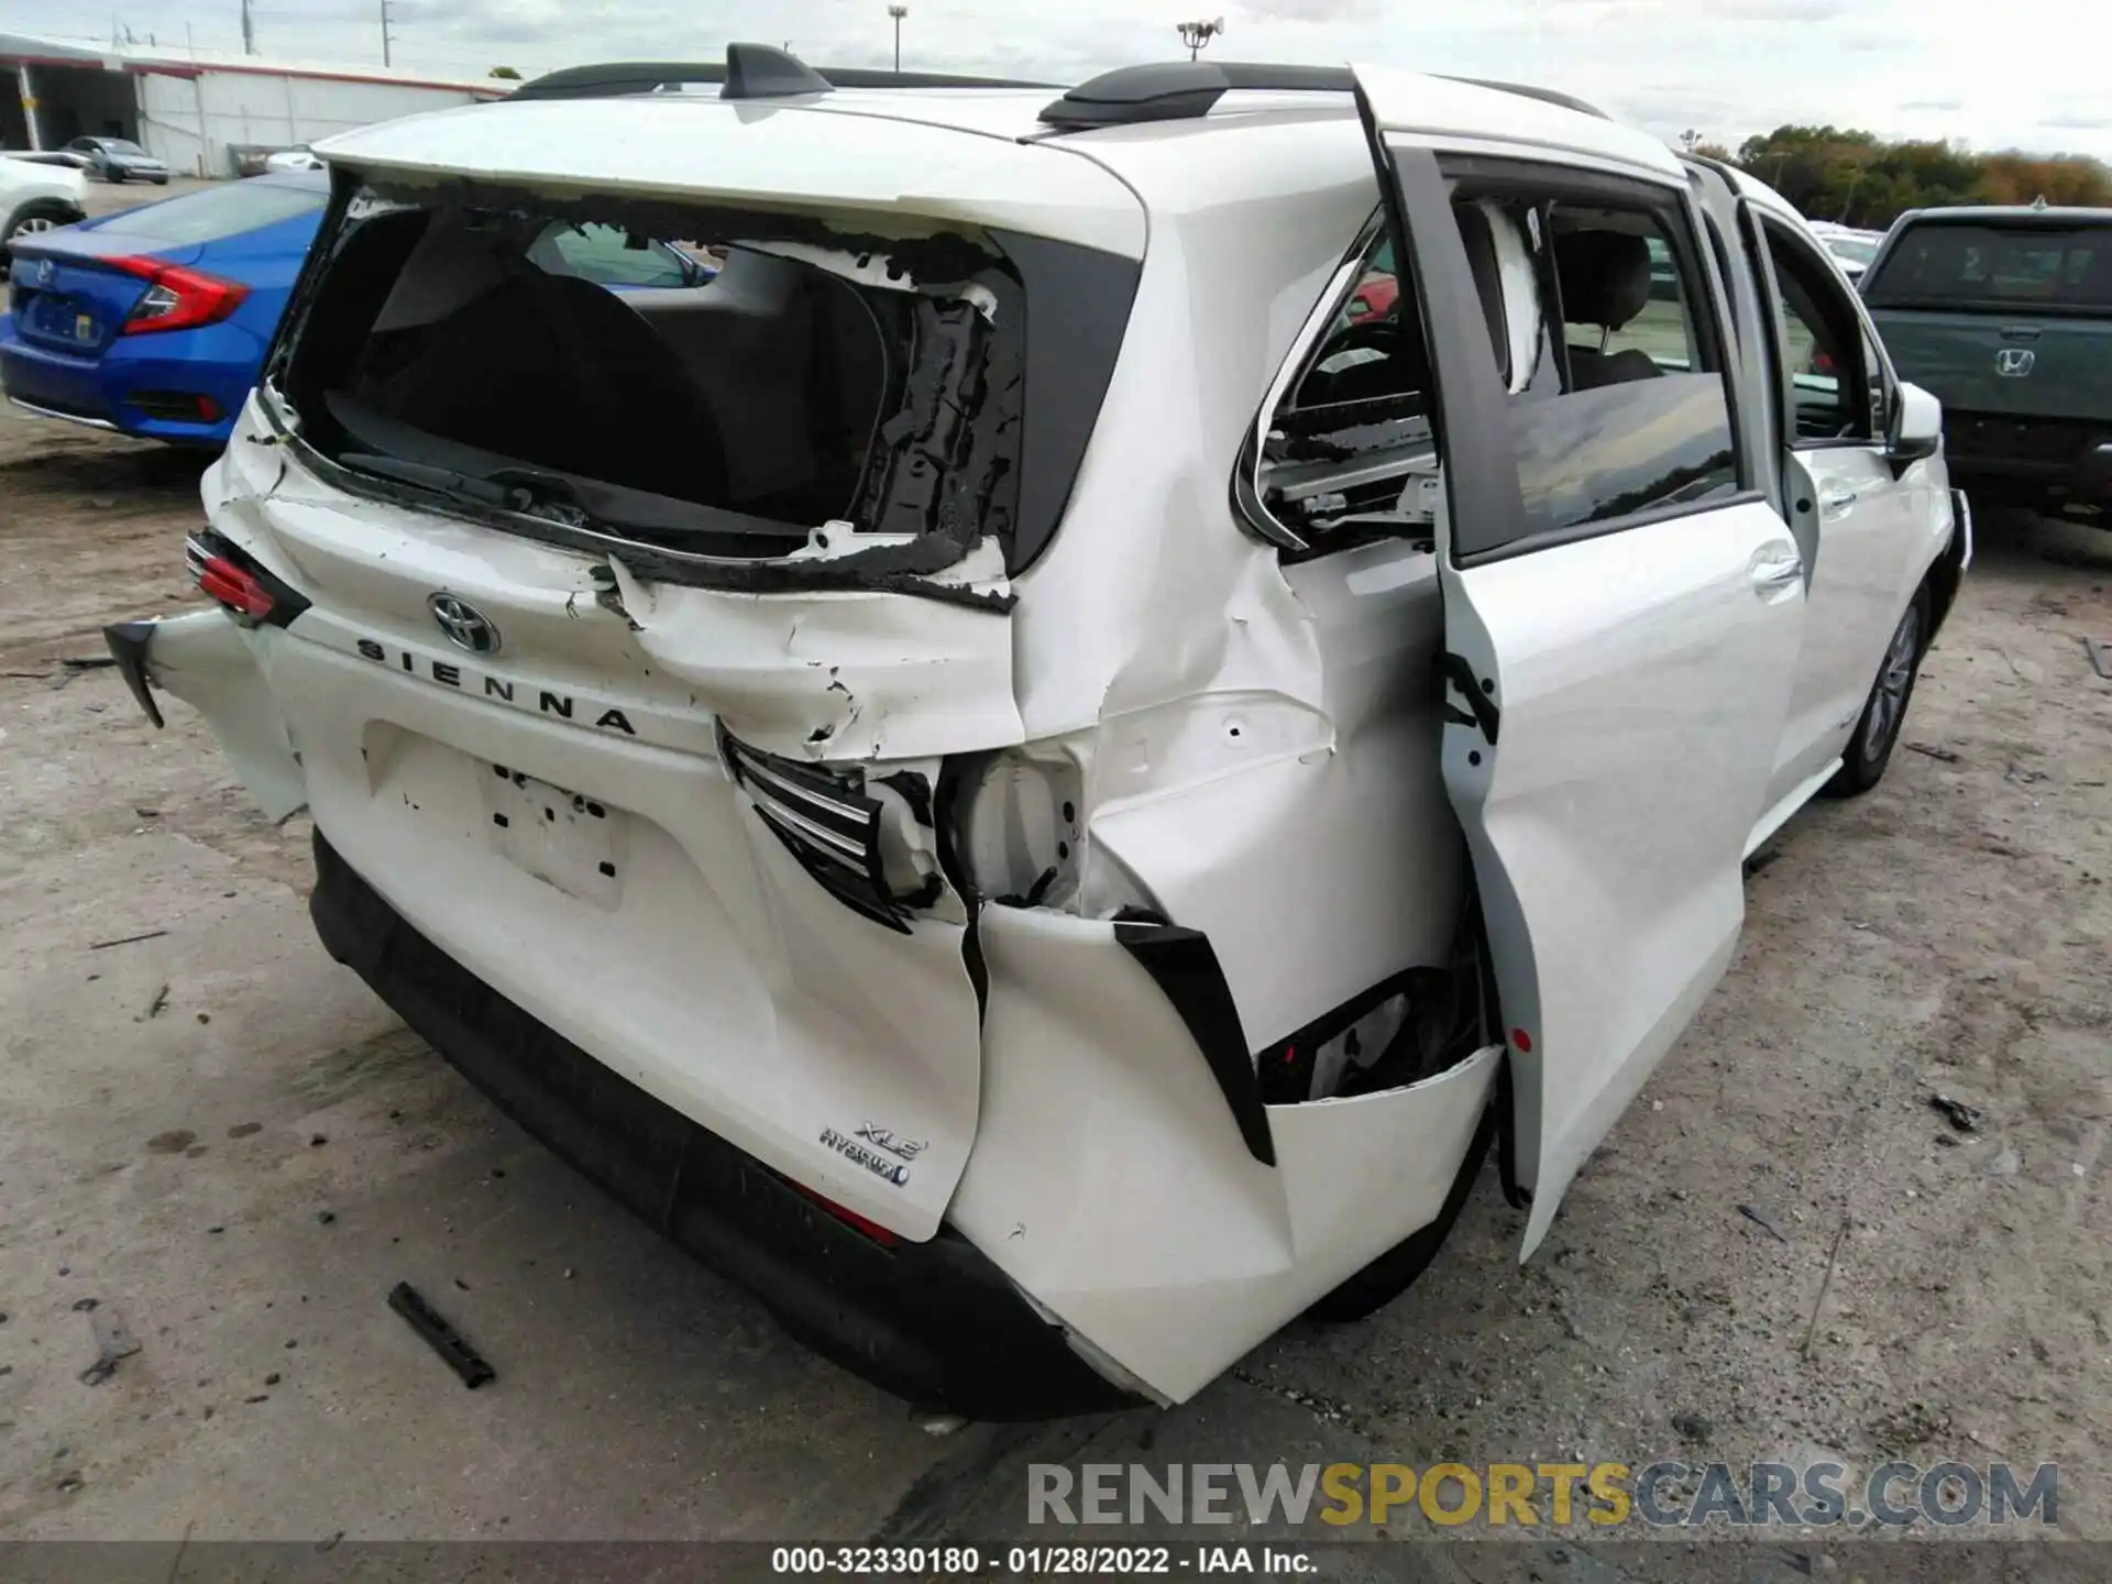
[[[503,99],[511,87],[0,34],[0,148],[131,137],[171,171],[239,175],[275,148],[420,110]]]

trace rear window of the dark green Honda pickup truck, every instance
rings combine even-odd
[[[1911,226],[1869,277],[1875,308],[2112,313],[2112,226]]]

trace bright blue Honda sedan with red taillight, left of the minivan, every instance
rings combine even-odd
[[[253,175],[15,243],[0,386],[49,418],[226,444],[329,203]]]

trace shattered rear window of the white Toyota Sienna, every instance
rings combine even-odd
[[[984,539],[1007,570],[1039,553],[1136,287],[1003,232],[458,182],[355,192],[321,251],[270,386],[353,488],[912,577]]]

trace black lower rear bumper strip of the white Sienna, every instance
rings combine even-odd
[[[1134,1407],[953,1231],[881,1246],[454,963],[315,834],[317,934],[501,1111],[824,1358],[972,1419]]]

